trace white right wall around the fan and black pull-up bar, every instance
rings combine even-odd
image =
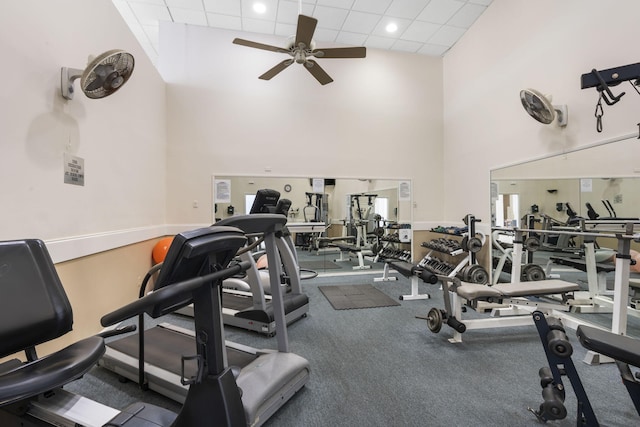
[[[640,96],[604,105],[596,132],[595,89],[580,76],[640,61],[635,0],[494,0],[444,58],[445,217],[489,218],[489,171],[637,132]],[[567,104],[562,129],[529,117],[519,92],[534,88]],[[448,177],[451,177],[449,179]]]

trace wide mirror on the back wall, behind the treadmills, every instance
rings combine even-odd
[[[411,181],[408,179],[229,175],[212,177],[214,221],[248,213],[256,192],[265,188],[276,190],[281,198],[291,201],[289,224],[293,232],[296,225],[321,224],[314,227],[312,233],[305,229],[294,235],[301,266],[304,260],[305,265],[321,273],[369,273],[381,269],[383,264],[373,262],[370,256],[360,260],[356,253],[341,255],[337,247],[327,246],[324,242],[318,244],[314,238],[335,238],[339,242],[341,237],[353,237],[345,239],[353,243],[354,239],[366,234],[369,236],[366,244],[372,245],[377,243],[372,234],[382,231],[392,234],[395,229],[391,227],[395,224],[412,222]],[[343,261],[336,262],[337,259]],[[317,262],[311,262],[313,260]],[[362,263],[366,268],[359,268]]]

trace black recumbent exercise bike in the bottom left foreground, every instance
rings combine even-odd
[[[0,357],[24,351],[26,362],[0,365],[2,426],[246,426],[241,390],[226,366],[220,315],[223,279],[241,273],[248,263],[227,267],[246,242],[232,227],[208,227],[178,234],[160,274],[166,286],[102,317],[102,326],[147,313],[157,318],[193,302],[194,345],[198,369],[181,411],[134,403],[122,411],[63,389],[82,377],[105,352],[104,336],[95,335],[39,358],[36,345],[72,329],[67,295],[44,242],[0,242]],[[194,344],[196,341],[194,340]]]

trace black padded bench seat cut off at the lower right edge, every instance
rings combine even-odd
[[[585,325],[578,326],[576,335],[587,350],[640,367],[640,340]]]

